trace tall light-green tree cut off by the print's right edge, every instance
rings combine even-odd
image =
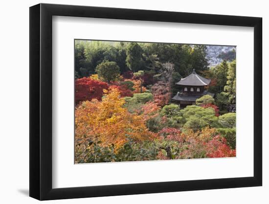
[[[230,103],[234,104],[236,101],[236,61],[233,61],[229,64],[227,85],[224,87],[224,91],[229,94]]]

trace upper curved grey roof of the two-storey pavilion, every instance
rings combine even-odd
[[[180,79],[180,81],[176,84],[182,86],[207,86],[210,84],[210,82],[211,79],[203,78],[202,76],[198,75],[195,70],[193,70],[189,76]]]

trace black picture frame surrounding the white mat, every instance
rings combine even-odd
[[[53,189],[52,16],[254,27],[254,176]],[[55,200],[262,185],[262,18],[41,3],[30,7],[29,27],[30,197]]]

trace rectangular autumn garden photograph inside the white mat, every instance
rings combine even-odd
[[[236,157],[236,46],[74,40],[74,163]]]

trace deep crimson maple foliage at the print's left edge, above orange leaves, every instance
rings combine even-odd
[[[75,102],[90,101],[92,99],[101,100],[103,90],[108,90],[109,85],[106,82],[94,80],[91,78],[80,78],[75,81]]]

